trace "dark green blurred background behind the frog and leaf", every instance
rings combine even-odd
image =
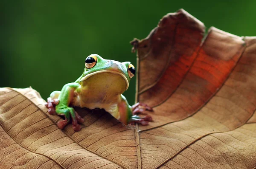
[[[207,28],[256,36],[256,0],[6,0],[0,2],[0,87],[32,86],[46,99],[81,75],[90,54],[136,65],[129,41],[145,38],[179,8]],[[131,104],[134,94],[135,78],[124,93]]]

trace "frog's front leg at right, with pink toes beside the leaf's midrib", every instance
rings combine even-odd
[[[146,104],[134,104],[134,106],[130,106],[125,96],[121,95],[122,99],[118,104],[119,113],[120,113],[120,121],[124,124],[142,124],[143,126],[148,125],[149,121],[153,121],[150,115],[146,115],[145,117],[140,117],[139,115],[135,115],[135,113],[143,113],[145,110],[152,110]],[[139,106],[143,106],[144,108],[139,108]],[[138,110],[138,109],[139,110]],[[136,112],[134,112],[136,110]]]

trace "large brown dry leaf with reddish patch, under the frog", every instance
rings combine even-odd
[[[126,127],[76,108],[64,130],[31,87],[0,89],[0,168],[252,169],[256,166],[256,37],[167,14],[138,51],[137,100],[154,122]],[[203,40],[202,40],[203,39]]]

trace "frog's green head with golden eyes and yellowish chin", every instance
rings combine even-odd
[[[129,82],[134,75],[135,68],[131,62],[121,63],[91,54],[85,59],[84,73],[79,82],[102,84],[102,87],[110,87],[109,84],[112,84],[111,90],[118,87],[122,93],[128,89]]]

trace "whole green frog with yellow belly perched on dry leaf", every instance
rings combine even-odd
[[[118,62],[91,54],[86,57],[84,64],[82,75],[75,82],[64,85],[61,91],[53,91],[45,103],[49,114],[64,116],[57,123],[60,129],[64,129],[72,120],[73,130],[81,130],[80,124],[84,123],[84,119],[74,107],[104,109],[125,125],[145,126],[153,121],[150,115],[139,115],[145,114],[145,110],[153,111],[151,107],[140,102],[131,106],[123,96],[136,74],[131,62]]]

